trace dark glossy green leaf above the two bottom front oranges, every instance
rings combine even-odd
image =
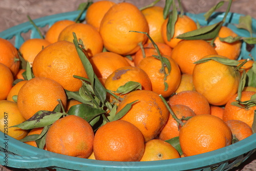
[[[68,114],[80,116],[81,118],[90,122],[95,117],[97,117],[101,114],[104,114],[105,112],[106,111],[104,111],[102,109],[92,108],[91,106],[82,103],[82,104],[76,104],[76,105],[71,106]]]

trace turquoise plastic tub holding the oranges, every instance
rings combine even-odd
[[[38,27],[51,26],[53,23],[62,19],[74,20],[79,11],[56,14],[35,19],[34,22]],[[224,13],[215,13],[214,17],[207,23],[204,20],[203,14],[187,13],[191,18],[198,20],[201,25],[209,25],[219,22]],[[84,17],[83,14],[82,17]],[[249,37],[246,30],[237,29],[233,24],[238,24],[241,14],[229,13],[225,26],[231,28],[240,36]],[[253,31],[256,32],[256,20],[253,19]],[[22,33],[31,30],[31,38],[39,38],[39,34],[34,27],[29,23],[24,23],[0,33],[0,37],[12,39],[15,37],[15,47],[24,42]],[[253,37],[256,34],[253,33]],[[256,48],[251,46],[250,52],[246,50],[246,44],[242,45],[241,58],[250,58],[251,54],[256,58]],[[232,167],[245,161],[251,154],[256,151],[256,134],[250,137],[217,149],[212,152],[179,158],[172,160],[150,161],[150,162],[111,162],[98,161],[90,159],[81,159],[39,149],[23,142],[17,141],[9,136],[5,137],[4,133],[0,132],[0,164],[16,168],[30,168],[33,170],[229,170]],[[7,157],[6,157],[7,156]]]

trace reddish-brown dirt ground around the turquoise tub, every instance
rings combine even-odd
[[[97,2],[99,0],[95,0]],[[127,0],[138,7],[151,4],[154,0]],[[227,0],[226,0],[227,1]],[[68,11],[74,11],[78,5],[86,0],[0,0],[0,32],[28,22],[27,15],[32,19],[42,16],[53,15]],[[113,0],[119,3],[123,0]],[[186,12],[201,13],[208,11],[212,6],[219,1],[212,0],[183,0],[182,4]],[[165,1],[161,0],[157,6],[164,6]],[[225,3],[227,5],[227,2]],[[226,5],[218,9],[225,11]],[[230,12],[236,12],[244,15],[251,15],[256,18],[256,0],[233,0]],[[14,169],[0,166],[0,170],[25,170]],[[239,167],[231,169],[231,171],[256,171],[256,153],[251,155]]]

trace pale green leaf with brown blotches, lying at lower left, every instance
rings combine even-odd
[[[20,129],[23,130],[30,130],[36,127],[44,127],[47,125],[51,125],[53,122],[58,120],[62,115],[63,114],[59,112],[38,111],[28,120],[11,127],[19,127]]]

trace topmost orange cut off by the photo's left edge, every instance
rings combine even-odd
[[[17,49],[11,44],[10,41],[0,37],[0,63],[7,66],[12,75],[16,75],[19,69],[19,57]]]

